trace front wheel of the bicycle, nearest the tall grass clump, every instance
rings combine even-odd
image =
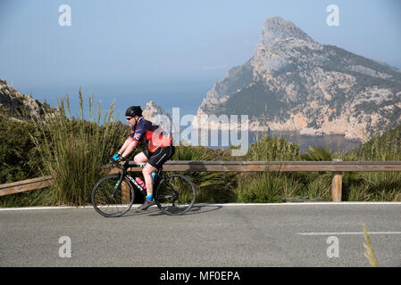
[[[120,175],[108,175],[101,178],[92,190],[92,205],[97,213],[106,217],[122,216],[129,211],[134,202],[134,190],[127,177],[114,188]]]

